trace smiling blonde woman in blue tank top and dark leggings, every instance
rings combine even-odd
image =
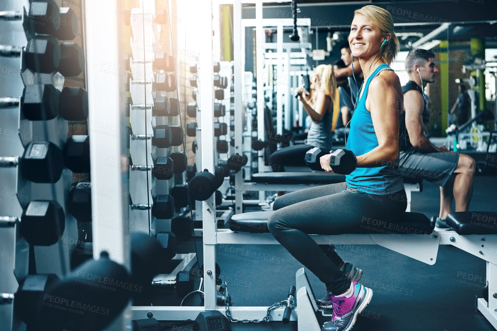
[[[318,304],[332,318],[323,331],[352,329],[373,291],[357,282],[359,269],[320,247],[309,234],[382,233],[381,227],[364,227],[364,220],[392,224],[407,207],[402,178],[390,166],[399,158],[399,115],[404,101],[399,77],[388,66],[399,50],[392,15],[374,5],[357,9],[348,42],[364,73],[347,137],[347,149],[356,155],[357,168],[343,183],[279,197],[268,221],[274,238],[326,285],[327,294]],[[323,169],[332,171],[330,155],[320,161]]]

